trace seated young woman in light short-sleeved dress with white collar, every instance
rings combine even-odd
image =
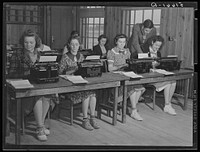
[[[118,34],[114,38],[115,47],[108,51],[107,60],[108,60],[108,70],[116,71],[121,70],[121,68],[128,66],[126,63],[126,59],[130,58],[130,51],[128,48],[125,48],[127,43],[127,36],[124,34]],[[123,88],[120,87],[119,95],[121,96],[123,93]],[[131,101],[131,117],[135,120],[142,121],[143,118],[138,114],[136,104],[140,96],[144,93],[145,88],[142,85],[134,85],[128,86],[127,88],[127,97],[130,98]]]

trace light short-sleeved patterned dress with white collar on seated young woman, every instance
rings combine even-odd
[[[114,47],[113,49],[108,51],[107,54],[107,60],[108,62],[113,62],[114,66],[120,66],[126,63],[126,59],[130,58],[130,51],[128,48],[124,48],[124,51],[121,51]],[[134,86],[128,86],[127,87],[127,98],[132,95],[135,91],[142,91],[142,93],[145,91],[145,88],[142,85],[134,85]],[[113,94],[113,93],[112,93]],[[121,86],[119,88],[118,95],[122,96],[123,94],[123,87]],[[113,95],[111,95],[111,99],[113,98]]]

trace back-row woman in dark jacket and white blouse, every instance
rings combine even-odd
[[[108,52],[108,38],[102,34],[98,37],[98,44],[93,46],[93,54],[100,55],[101,58],[106,58]]]

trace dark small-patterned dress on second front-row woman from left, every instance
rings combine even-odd
[[[66,74],[68,71],[76,71],[78,69],[78,62],[82,62],[84,60],[84,56],[81,53],[77,53],[76,56],[71,54],[71,52],[67,52],[62,56],[60,61],[59,74]],[[73,74],[73,73],[72,73]],[[75,93],[67,93],[65,97],[73,101],[74,104],[83,102],[90,96],[96,96],[95,91],[80,91]]]

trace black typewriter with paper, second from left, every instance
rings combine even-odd
[[[78,70],[74,75],[82,77],[98,77],[102,75],[103,62],[101,59],[86,59],[78,63]]]

